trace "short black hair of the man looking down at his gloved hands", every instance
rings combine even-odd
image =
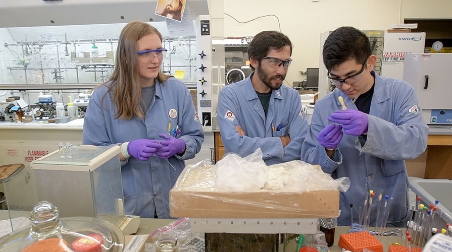
[[[349,59],[363,64],[371,54],[369,38],[362,31],[350,26],[334,30],[323,45],[323,63],[328,71]]]

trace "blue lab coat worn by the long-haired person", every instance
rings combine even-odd
[[[108,88],[94,90],[89,100],[83,125],[83,144],[112,145],[136,139],[161,139],[158,135],[177,122],[181,125],[180,139],[185,141],[186,150],[182,156],[168,159],[153,155],[147,161],[134,157],[121,162],[125,213],[154,218],[154,209],[159,218],[171,218],[169,192],[185,167],[183,160],[193,158],[204,141],[204,132],[194,109],[193,100],[186,86],[175,78],[160,83],[156,79],[156,92],[143,119],[115,118],[116,105]],[[104,97],[105,96],[105,97]],[[170,109],[176,109],[176,118],[170,118]],[[171,165],[168,163],[171,163]]]

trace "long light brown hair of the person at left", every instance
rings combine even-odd
[[[116,67],[112,76],[106,82],[112,82],[109,92],[118,111],[116,118],[130,120],[135,115],[143,118],[140,109],[141,85],[137,68],[137,42],[148,34],[157,34],[160,41],[162,34],[152,25],[141,21],[128,23],[119,35],[118,48],[116,50]],[[160,70],[157,75],[159,82],[163,83],[171,76],[165,75]],[[102,85],[105,85],[101,84]],[[110,92],[113,91],[113,92]]]

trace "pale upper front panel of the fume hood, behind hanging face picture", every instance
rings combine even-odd
[[[208,0],[190,0],[191,17],[209,14]],[[59,26],[166,21],[157,0],[0,0],[0,27]]]

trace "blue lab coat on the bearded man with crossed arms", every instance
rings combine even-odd
[[[251,76],[222,88],[218,95],[217,118],[226,153],[245,157],[261,148],[267,165],[300,160],[309,125],[298,92],[286,86],[273,90],[266,118]],[[236,132],[237,125],[246,136]],[[282,147],[279,137],[288,134],[290,143]]]

